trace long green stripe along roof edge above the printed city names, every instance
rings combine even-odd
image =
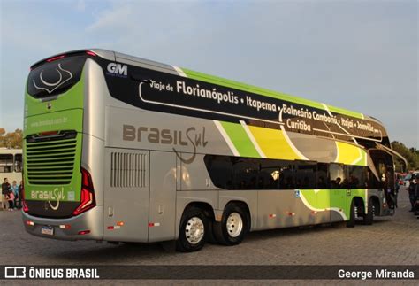
[[[292,103],[303,104],[303,105],[307,105],[307,106],[310,106],[310,107],[325,110],[323,104],[317,103],[315,101],[311,101],[309,99],[290,96],[290,95],[287,95],[285,93],[273,91],[273,90],[270,90],[270,89],[263,89],[263,88],[255,87],[253,85],[245,84],[245,83],[238,82],[238,81],[226,80],[224,78],[217,77],[217,76],[214,76],[214,75],[209,75],[209,74],[206,74],[206,73],[194,72],[194,71],[188,70],[187,68],[183,68],[183,67],[181,68],[181,70],[185,74],[187,74],[188,78],[191,78],[193,80],[205,81],[205,82],[209,82],[209,83],[213,83],[213,84],[222,85],[222,86],[225,86],[227,88],[240,89],[240,90],[243,90],[243,91],[248,91],[248,92],[252,92],[252,93],[255,93],[255,94],[259,94],[259,95],[262,95],[262,96],[265,96],[265,97],[272,97],[272,98],[276,98],[276,99],[280,99],[280,100],[286,100],[286,101],[289,101],[289,102],[292,102]],[[348,111],[346,109],[339,108],[339,107],[334,107],[334,106],[331,106],[331,105],[327,105],[327,107],[329,108],[329,110],[331,112],[337,112],[337,113],[340,113],[340,114],[353,116],[353,117],[359,118],[359,119],[363,118],[362,114],[359,113],[359,112],[351,112],[351,111]]]

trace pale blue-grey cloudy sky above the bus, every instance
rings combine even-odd
[[[29,66],[116,50],[362,112],[419,149],[418,2],[0,0],[0,128]]]

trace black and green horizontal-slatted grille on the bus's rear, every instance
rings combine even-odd
[[[26,145],[27,179],[34,185],[66,185],[72,182],[77,140],[57,138]]]

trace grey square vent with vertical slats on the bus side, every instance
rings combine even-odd
[[[110,187],[146,187],[146,154],[110,153]]]

